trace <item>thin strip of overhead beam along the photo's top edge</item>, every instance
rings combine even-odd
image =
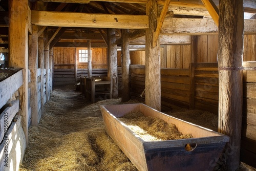
[[[42,2],[53,2],[53,3],[77,3],[77,4],[88,4],[90,0],[39,0]],[[93,0],[93,1],[102,1],[102,0]],[[114,3],[137,3],[137,4],[146,4],[148,0],[104,0],[103,2],[114,2]]]

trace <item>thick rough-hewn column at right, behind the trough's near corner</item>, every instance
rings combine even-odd
[[[219,132],[230,137],[221,160],[226,170],[240,164],[243,104],[243,0],[220,1],[219,18]]]

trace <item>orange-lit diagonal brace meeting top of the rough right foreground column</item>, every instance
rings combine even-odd
[[[212,0],[202,0],[215,24],[219,27],[219,9]]]

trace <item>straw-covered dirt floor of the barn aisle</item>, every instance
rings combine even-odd
[[[106,99],[92,104],[74,86],[55,88],[40,123],[29,129],[29,146],[19,171],[137,170],[105,133],[100,104],[122,102]],[[240,170],[255,169],[242,163]]]

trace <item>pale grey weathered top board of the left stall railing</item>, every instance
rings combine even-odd
[[[0,82],[0,108],[2,108],[12,95],[22,86],[23,84],[23,70],[18,71],[14,75],[6,78]]]

